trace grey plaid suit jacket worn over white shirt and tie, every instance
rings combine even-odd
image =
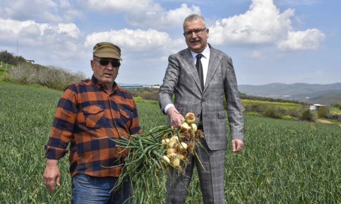
[[[189,48],[170,55],[169,64],[160,86],[158,100],[161,110],[172,103],[185,115],[200,114],[206,142],[210,150],[227,147],[226,114],[223,106],[225,94],[231,139],[244,140],[244,120],[232,59],[222,51],[210,47],[208,73],[204,90],[201,90],[198,72]],[[199,117],[196,119],[198,121]],[[170,120],[168,121],[170,124]]]

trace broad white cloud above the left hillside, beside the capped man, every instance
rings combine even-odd
[[[66,62],[84,54],[74,23],[37,23],[33,20],[0,18],[0,45],[2,49],[15,50],[42,65],[66,66]]]

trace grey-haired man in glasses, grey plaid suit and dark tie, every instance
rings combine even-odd
[[[224,163],[227,148],[225,94],[231,130],[232,151],[243,147],[244,120],[232,60],[207,43],[208,28],[200,15],[189,15],[184,21],[184,36],[188,48],[170,55],[158,99],[161,110],[169,116],[173,128],[179,128],[183,115],[198,114],[198,129],[205,139],[201,143],[207,152],[197,148],[197,158],[189,159],[186,175],[175,171],[167,181],[166,204],[184,204],[187,187],[196,165],[205,204],[224,204]],[[199,54],[199,56],[197,56]],[[172,95],[175,95],[172,103]],[[181,114],[179,114],[181,113]]]

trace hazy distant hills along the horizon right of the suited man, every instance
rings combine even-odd
[[[238,85],[240,92],[251,96],[263,96],[311,103],[341,103],[341,83],[319,84],[281,84]]]

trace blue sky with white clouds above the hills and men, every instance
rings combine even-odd
[[[160,85],[200,14],[238,85],[341,82],[341,0],[0,0],[0,51],[91,77],[93,47],[121,48],[117,83]]]

